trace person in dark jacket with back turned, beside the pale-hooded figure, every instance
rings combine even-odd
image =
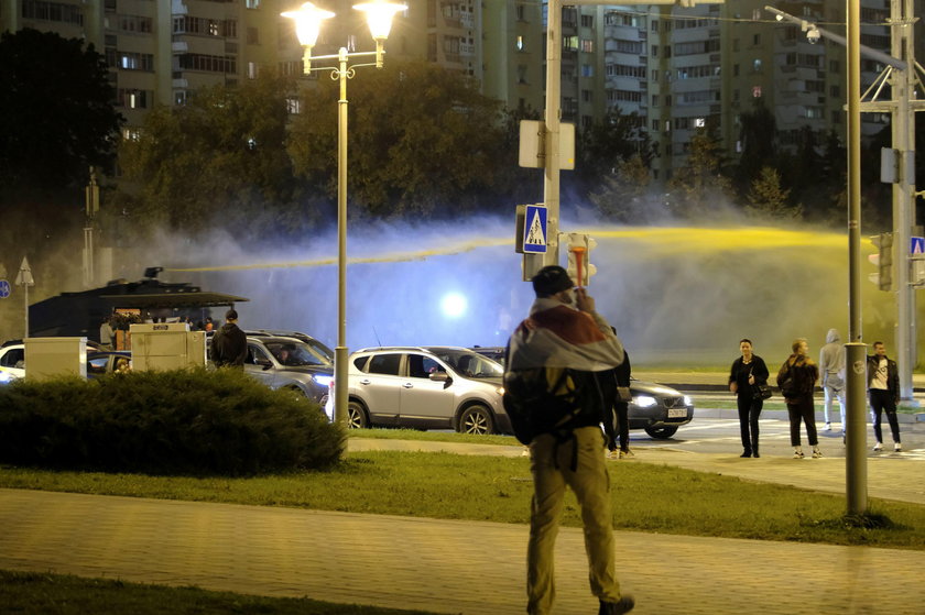
[[[787,404],[787,415],[791,422],[791,446],[793,458],[803,459],[803,447],[799,442],[799,421],[806,425],[806,438],[813,447],[813,458],[823,457],[819,440],[816,436],[816,407],[813,405],[813,389],[819,380],[819,367],[808,356],[809,344],[805,338],[794,340],[791,354],[777,371],[777,386]]]

